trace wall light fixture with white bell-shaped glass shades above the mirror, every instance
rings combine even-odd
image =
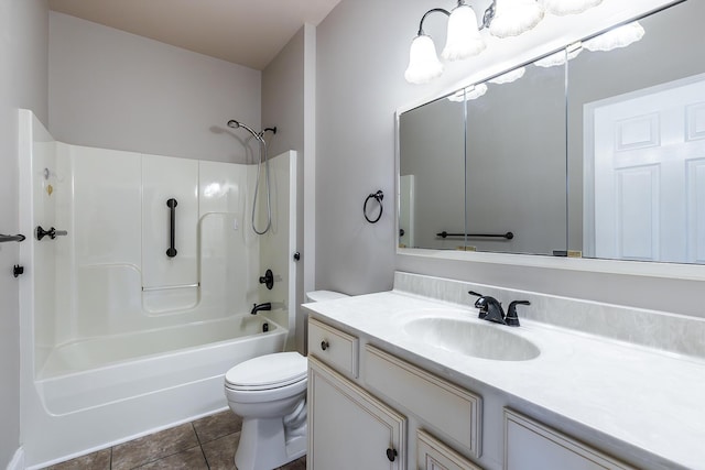
[[[481,20],[466,0],[457,0],[453,11],[434,8],[424,13],[419,33],[411,43],[409,66],[404,78],[411,84],[425,84],[443,74],[443,64],[436,55],[431,36],[424,33],[423,22],[432,13],[448,17],[447,39],[442,56],[446,61],[459,61],[478,55],[486,48],[480,31],[489,30],[497,37],[510,37],[533,29],[544,17],[572,14],[601,3],[603,0],[492,0],[482,12]]]

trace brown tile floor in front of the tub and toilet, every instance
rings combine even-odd
[[[165,429],[46,470],[237,470],[242,422],[229,409]],[[302,457],[278,470],[305,470]]]

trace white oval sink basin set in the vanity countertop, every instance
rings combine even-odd
[[[528,361],[541,351],[509,327],[454,318],[417,318],[403,326],[410,337],[446,351],[495,361]]]

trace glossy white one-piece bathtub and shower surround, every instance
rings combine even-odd
[[[252,165],[68,145],[20,118],[21,228],[68,232],[21,248],[28,468],[224,409],[229,368],[293,341],[295,152],[271,159],[272,230],[258,237]],[[261,302],[274,308],[251,316]]]

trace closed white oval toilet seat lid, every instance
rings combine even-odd
[[[225,374],[225,380],[248,387],[283,386],[304,379],[307,363],[299,352],[265,354],[240,362]]]

